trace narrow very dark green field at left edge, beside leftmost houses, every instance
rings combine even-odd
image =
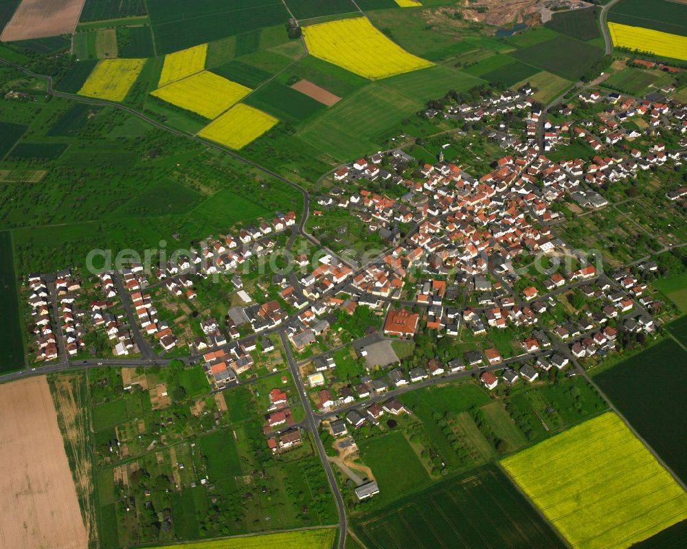
[[[0,372],[19,370],[24,366],[24,345],[19,327],[19,302],[9,231],[0,231],[0,307],[5,319],[0,331]]]

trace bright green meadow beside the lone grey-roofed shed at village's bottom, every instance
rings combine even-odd
[[[379,494],[374,496],[376,503],[391,502],[429,483],[425,467],[402,432],[357,442],[361,460],[372,469],[379,485]],[[403,475],[398,471],[403,471]]]

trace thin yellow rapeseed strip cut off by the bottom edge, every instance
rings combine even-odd
[[[278,534],[261,534],[255,536],[216,539],[214,541],[196,541],[190,544],[175,544],[155,547],[153,549],[330,549],[334,544],[337,531],[335,528],[319,530],[293,530]]]

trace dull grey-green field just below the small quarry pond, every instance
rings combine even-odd
[[[579,80],[603,56],[603,50],[587,43],[556,36],[511,53],[513,57],[550,73]]]

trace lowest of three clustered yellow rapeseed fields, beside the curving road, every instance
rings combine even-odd
[[[198,135],[239,149],[260,137],[277,122],[279,120],[275,117],[241,103],[207,124]]]

